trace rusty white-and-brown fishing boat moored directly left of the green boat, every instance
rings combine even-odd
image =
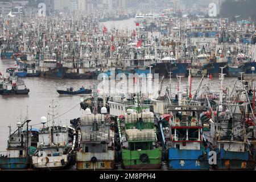
[[[97,114],[97,95],[94,93],[93,114],[89,108],[79,119],[79,151],[76,152],[78,170],[114,169],[115,148],[114,131],[110,130],[111,118],[106,107]],[[73,122],[72,122],[73,123]]]

